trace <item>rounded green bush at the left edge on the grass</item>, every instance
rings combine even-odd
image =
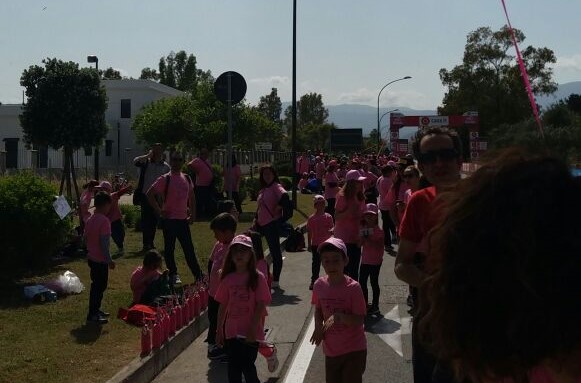
[[[57,194],[54,185],[31,173],[0,178],[2,267],[45,267],[66,242],[72,220],[61,220],[54,211]]]

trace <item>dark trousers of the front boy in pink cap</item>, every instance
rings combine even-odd
[[[327,383],[361,383],[367,366],[367,350],[325,357]]]

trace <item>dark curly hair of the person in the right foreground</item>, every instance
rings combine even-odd
[[[444,198],[419,329],[459,375],[525,382],[547,359],[578,367],[580,195],[560,160],[512,150]]]

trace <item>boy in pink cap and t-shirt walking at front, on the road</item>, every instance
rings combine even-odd
[[[343,274],[349,262],[345,243],[331,237],[318,250],[327,275],[313,286],[315,330],[311,343],[323,343],[327,383],[361,383],[367,360],[365,299],[359,283]]]

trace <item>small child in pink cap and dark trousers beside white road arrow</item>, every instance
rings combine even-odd
[[[367,304],[369,315],[379,314],[379,272],[383,262],[384,233],[378,223],[378,207],[368,203],[363,213],[361,228],[361,266],[359,268],[359,283],[363,289],[363,296]],[[373,300],[369,305],[367,294],[367,279],[371,279]]]

